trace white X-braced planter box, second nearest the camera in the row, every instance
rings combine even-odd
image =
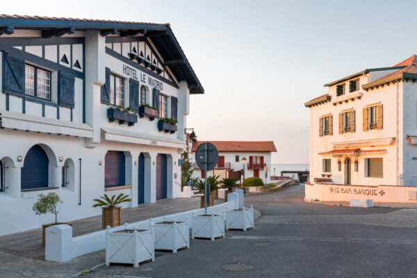
[[[188,218],[188,217],[187,217]],[[154,240],[156,250],[177,250],[190,248],[190,228],[186,222],[166,221],[156,223],[154,226]]]

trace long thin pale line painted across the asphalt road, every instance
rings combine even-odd
[[[317,236],[228,236],[231,239],[249,240],[314,240],[335,243],[388,243],[388,244],[417,244],[417,240],[388,239],[388,238],[329,238]]]

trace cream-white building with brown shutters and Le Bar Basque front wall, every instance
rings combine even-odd
[[[306,199],[417,202],[417,56],[325,84],[310,108]]]

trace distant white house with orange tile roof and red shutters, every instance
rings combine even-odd
[[[193,144],[191,158],[195,161],[195,151],[204,142],[211,142],[219,152],[218,164],[207,177],[218,175],[220,179],[237,177],[237,172],[245,169],[245,178],[259,177],[265,183],[265,166],[268,167],[266,183],[270,183],[271,154],[277,152],[272,141],[198,141]],[[245,158],[245,163],[242,163]],[[195,163],[194,176],[204,179],[204,171]],[[242,176],[243,179],[243,176]]]

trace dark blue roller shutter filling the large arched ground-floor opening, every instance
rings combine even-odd
[[[20,172],[20,186],[22,190],[48,187],[48,165],[48,156],[42,147],[39,145],[31,147],[24,158]]]

